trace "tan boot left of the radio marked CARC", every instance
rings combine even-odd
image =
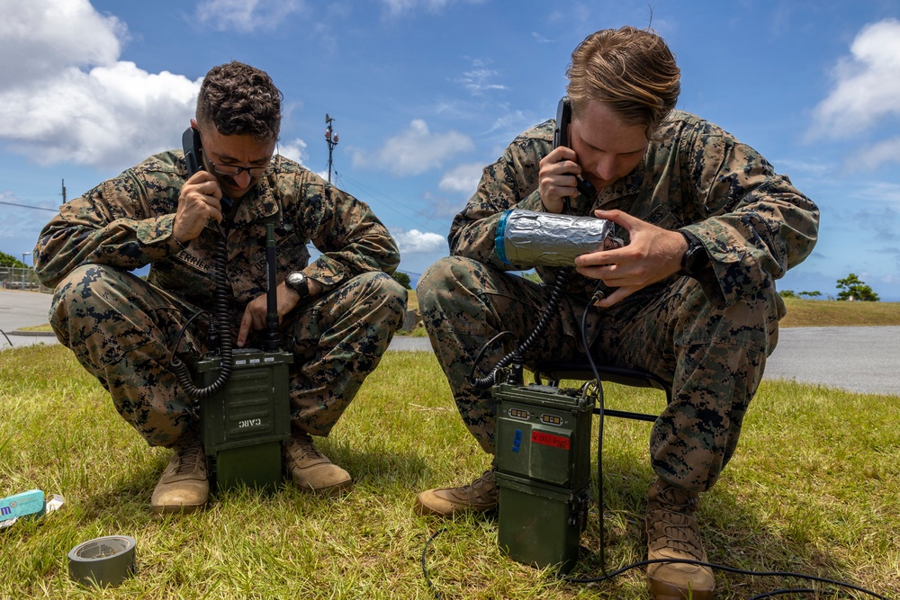
[[[206,506],[210,497],[206,454],[200,438],[191,436],[174,450],[150,497],[150,512],[154,515],[193,513]]]

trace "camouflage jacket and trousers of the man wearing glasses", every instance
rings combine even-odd
[[[266,292],[273,223],[279,282],[302,270],[324,289],[280,329],[294,354],[293,425],[328,435],[401,326],[406,291],[388,274],[400,255],[364,202],[287,158],[272,166],[223,225],[227,327],[236,331],[247,303]],[[170,359],[190,363],[209,350],[216,310],[219,228],[211,223],[184,246],[173,236],[187,178],[181,151],[150,157],[63,205],[34,249],[41,282],[56,288],[50,324],[59,341],[150,445],[172,446],[197,426]],[[321,252],[311,264],[309,242]],[[146,281],[131,273],[147,264]],[[257,336],[248,347],[261,346]]]

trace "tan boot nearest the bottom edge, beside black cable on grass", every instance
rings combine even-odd
[[[702,560],[707,552],[700,544],[696,492],[674,488],[656,479],[647,504],[647,559]],[[716,589],[713,569],[684,563],[647,566],[650,596],[655,600],[711,600]]]

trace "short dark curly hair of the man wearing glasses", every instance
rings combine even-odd
[[[283,95],[266,71],[237,60],[212,67],[197,96],[197,122],[225,136],[278,139]]]

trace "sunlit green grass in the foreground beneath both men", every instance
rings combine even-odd
[[[612,384],[608,407],[659,410],[662,394]],[[607,569],[643,560],[650,425],[609,418],[604,436]],[[594,425],[595,435],[597,425]],[[40,488],[66,504],[0,532],[0,598],[644,598],[644,572],[578,585],[509,560],[490,516],[413,515],[416,493],[488,466],[429,353],[389,352],[334,433],[320,441],[349,470],[338,500],[287,486],[241,490],[204,512],[157,520],[148,502],[168,452],[150,449],[67,349],[0,353],[0,493]],[[596,475],[595,475],[596,477]],[[723,479],[702,497],[709,559],[835,578],[900,595],[900,398],[765,381]],[[596,484],[596,481],[595,481]],[[595,487],[596,488],[596,487]],[[598,510],[572,572],[600,572]],[[67,552],[103,535],[137,540],[137,574],[102,593],[73,583]],[[717,574],[720,598],[796,579]],[[808,596],[807,596],[808,597]],[[835,596],[824,587],[823,598]]]

